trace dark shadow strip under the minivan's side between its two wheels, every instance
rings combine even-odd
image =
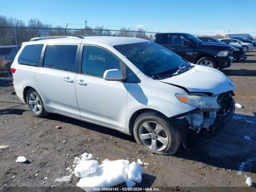
[[[136,142],[133,135],[130,136],[130,135],[121,133],[118,130],[106,128],[106,127],[88,123],[88,122],[84,122],[82,120],[76,120],[74,118],[70,118],[70,117],[66,117],[66,116],[62,116],[62,115],[58,115],[58,114],[50,114],[50,115],[46,116],[45,118],[48,120],[55,120],[55,121],[65,122],[68,124],[73,124],[73,125],[80,126],[82,128],[86,128],[86,129],[96,131],[96,132],[99,132],[102,134],[107,134],[107,135],[118,137],[118,138],[121,138],[121,139],[124,139],[127,141]]]

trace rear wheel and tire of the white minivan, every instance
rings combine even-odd
[[[35,116],[44,117],[49,114],[44,108],[40,95],[33,88],[28,90],[26,100],[30,110]]]

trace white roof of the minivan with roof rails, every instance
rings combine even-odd
[[[80,37],[66,37],[66,38],[49,38],[36,41],[26,42],[25,44],[39,44],[39,43],[92,43],[92,42],[101,42],[105,44],[121,45],[121,44],[131,44],[139,42],[148,42],[148,40],[141,38],[132,38],[132,37],[115,37],[115,36],[82,36]]]

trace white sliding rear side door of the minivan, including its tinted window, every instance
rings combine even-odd
[[[48,110],[80,117],[75,79],[78,45],[47,45],[43,67],[36,69],[36,82]]]

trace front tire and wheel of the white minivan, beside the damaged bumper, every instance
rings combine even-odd
[[[172,155],[180,147],[178,130],[166,116],[153,110],[142,112],[136,118],[133,133],[140,147],[152,153]]]

